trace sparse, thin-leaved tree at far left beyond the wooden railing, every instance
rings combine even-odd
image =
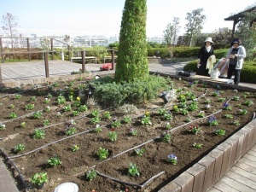
[[[16,27],[19,25],[16,20],[17,20],[17,17],[15,15],[12,15],[11,13],[6,13],[6,15],[2,16],[2,22],[3,22],[2,29],[7,33],[9,37],[11,37],[12,49],[14,49],[13,37],[15,37],[15,34],[18,32]]]

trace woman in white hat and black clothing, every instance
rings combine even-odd
[[[214,50],[212,48],[212,38],[206,38],[205,45],[201,47],[199,54],[198,54],[198,61],[197,61],[197,75],[204,75],[208,76],[208,69],[207,69],[207,61],[211,55],[214,55]]]

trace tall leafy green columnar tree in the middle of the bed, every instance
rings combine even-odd
[[[126,0],[119,35],[117,82],[148,79],[147,0]]]

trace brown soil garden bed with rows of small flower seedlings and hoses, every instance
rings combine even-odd
[[[37,190],[31,183],[31,177],[36,172],[48,173],[49,183],[45,184],[44,191],[53,191],[58,184],[65,182],[77,183],[79,191],[157,191],[246,125],[256,111],[255,93],[172,79],[177,89],[176,100],[165,105],[158,98],[154,102],[138,105],[136,112],[127,114],[119,108],[88,106],[83,97],[79,97],[80,105],[76,104],[79,101],[78,87],[84,84],[88,82],[48,84],[24,87],[22,90],[3,89],[0,93],[0,122],[5,126],[0,131],[1,148],[15,163],[32,191]],[[60,93],[65,96],[65,103],[58,103]],[[33,101],[32,98],[36,99]],[[180,105],[183,98],[187,107]],[[197,102],[196,109],[195,105],[191,105],[193,100]],[[228,102],[230,110],[224,110],[228,109],[224,108],[225,102]],[[65,111],[69,104],[71,111]],[[88,110],[79,109],[84,104]],[[166,115],[161,114],[160,109],[165,109]],[[185,109],[189,110],[186,112]],[[95,130],[96,124],[92,124],[91,115],[95,110],[101,118],[99,125],[102,131],[99,133]],[[37,119],[34,114],[38,111],[41,116]],[[104,117],[106,111],[110,113],[110,119]],[[170,112],[171,117],[168,115]],[[150,117],[152,125],[142,124],[145,114]],[[131,122],[125,123],[124,117],[128,115]],[[212,115],[218,125],[209,125]],[[113,127],[113,119],[120,121],[121,125]],[[49,120],[49,125],[46,120]],[[166,128],[166,123],[171,128]],[[201,131],[195,135],[191,126],[197,126]],[[67,135],[71,127],[76,132]],[[137,136],[131,135],[131,128],[137,130]],[[219,128],[225,131],[224,136],[213,133]],[[35,129],[45,131],[44,139],[33,138]],[[115,142],[108,137],[108,132],[113,131],[118,134]],[[171,140],[163,142],[163,134],[170,134]],[[195,143],[202,144],[201,148],[195,148]],[[19,144],[24,144],[25,149],[15,153],[14,148]],[[74,145],[79,147],[78,151],[72,151]],[[99,148],[108,149],[106,160],[99,160]],[[137,155],[134,152],[136,148],[143,149],[144,153]],[[167,161],[169,154],[177,156],[177,165]],[[53,157],[59,158],[61,165],[49,166],[47,161]],[[131,163],[138,167],[139,176],[129,176]],[[86,172],[91,170],[98,174],[89,181]],[[25,191],[20,180],[18,183],[20,191]]]

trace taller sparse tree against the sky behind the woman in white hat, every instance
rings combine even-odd
[[[187,13],[186,20],[188,23],[185,26],[186,36],[189,41],[189,47],[191,47],[198,34],[201,33],[204,21],[207,19],[206,15],[201,15],[203,9],[195,9],[191,13]]]

